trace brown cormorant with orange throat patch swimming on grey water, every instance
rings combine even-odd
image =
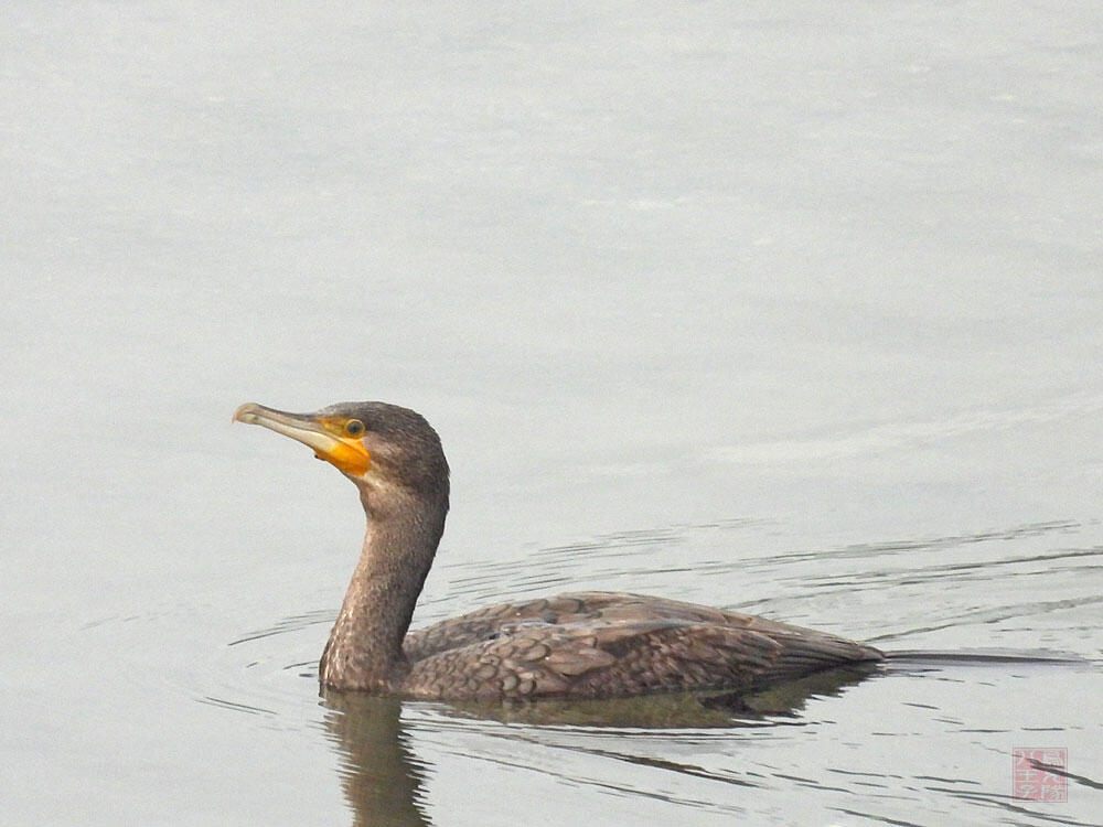
[[[437,432],[386,402],[314,414],[247,402],[234,421],[307,444],[360,491],[364,546],[319,664],[330,689],[443,700],[751,692],[884,657],[824,632],[621,592],[501,603],[409,632],[449,505]]]

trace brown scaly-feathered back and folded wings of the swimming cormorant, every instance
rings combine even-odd
[[[407,635],[406,695],[601,698],[753,691],[882,655],[835,635],[620,592],[502,603]]]

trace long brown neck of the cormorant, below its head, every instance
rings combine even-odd
[[[404,497],[368,513],[364,548],[345,593],[320,678],[335,689],[397,691],[409,669],[403,638],[432,566],[448,502]]]

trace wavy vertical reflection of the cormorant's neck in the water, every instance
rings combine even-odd
[[[422,799],[425,764],[410,749],[398,698],[322,691],[325,729],[341,751],[341,786],[363,827],[431,824]]]

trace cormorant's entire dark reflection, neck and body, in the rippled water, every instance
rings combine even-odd
[[[808,698],[838,695],[876,670],[876,664],[859,664],[749,696],[678,692],[581,701],[546,699],[431,706],[448,716],[534,727],[647,730],[768,727],[795,718]],[[414,754],[401,721],[403,702],[362,692],[322,691],[325,728],[341,750],[341,784],[355,825],[431,824],[424,803],[428,767]],[[532,730],[525,731],[528,740]]]

